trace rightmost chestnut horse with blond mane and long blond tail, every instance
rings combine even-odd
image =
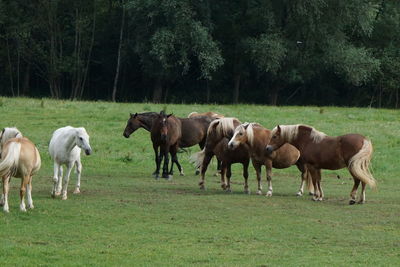
[[[307,125],[278,125],[272,130],[272,139],[266,150],[270,153],[285,143],[300,150],[300,160],[307,165],[313,179],[314,200],[321,201],[324,197],[320,182],[321,169],[338,170],[347,167],[354,179],[350,205],[356,203],[360,182],[360,204],[365,202],[365,185],[376,187],[376,181],[369,171],[372,144],[362,135],[331,137]]]

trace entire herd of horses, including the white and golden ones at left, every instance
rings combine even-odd
[[[257,194],[262,194],[261,169],[265,166],[268,182],[266,196],[272,196],[272,168],[284,169],[296,165],[301,173],[298,196],[304,194],[306,184],[313,200],[322,201],[321,169],[338,170],[347,167],[354,179],[349,204],[356,203],[357,189],[362,184],[358,203],[365,203],[368,184],[376,187],[369,171],[372,144],[359,134],[328,136],[307,125],[278,125],[273,130],[258,123],[242,123],[237,118],[228,118],[214,112],[192,112],[187,118],[179,118],[164,111],[130,114],[123,136],[129,136],[139,128],[150,132],[153,143],[156,170],[155,178],[171,179],[174,164],[180,175],[184,175],[177,153],[181,148],[199,145],[201,151],[191,156],[191,161],[200,174],[200,189],[205,189],[205,173],[215,156],[220,171],[221,187],[231,192],[231,165],[243,165],[244,192],[250,193],[248,167],[250,161],[256,171]],[[49,144],[49,153],[54,161],[53,189],[51,196],[61,195],[67,199],[70,173],[75,167],[77,183],[74,193],[80,193],[82,164],[81,150],[92,153],[89,135],[85,128],[66,126],[54,131]],[[171,164],[169,163],[171,157]],[[63,175],[63,165],[67,170]],[[171,165],[169,167],[169,165]],[[9,211],[8,191],[11,177],[21,178],[20,210],[33,208],[32,176],[38,172],[41,158],[36,146],[16,128],[4,128],[0,133],[0,177],[3,194],[0,205]],[[64,182],[63,182],[64,181]]]

